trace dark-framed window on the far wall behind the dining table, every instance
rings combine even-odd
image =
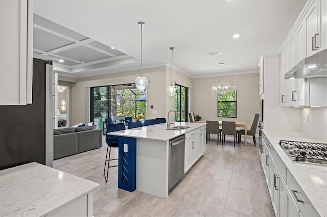
[[[218,91],[218,117],[236,118],[236,89]]]

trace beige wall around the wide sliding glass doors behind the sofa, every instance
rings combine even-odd
[[[71,88],[71,125],[89,121],[87,120],[88,114],[86,114],[89,109],[85,96],[86,87],[131,83],[140,73],[140,70],[134,70],[78,78],[76,83],[72,83]],[[143,75],[150,80],[147,88],[147,118],[166,117],[166,66],[143,69]],[[150,105],[154,106],[151,110]],[[152,114],[153,110],[157,111],[157,114]]]

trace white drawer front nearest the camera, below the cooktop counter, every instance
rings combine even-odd
[[[287,170],[286,177],[286,185],[288,185],[288,188],[292,193],[292,197],[294,198],[296,205],[298,206],[303,216],[319,216],[319,214],[309,201],[309,198],[302,191],[301,187],[296,182],[295,178],[292,176],[289,170]]]

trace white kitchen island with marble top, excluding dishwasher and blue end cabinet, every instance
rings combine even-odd
[[[184,172],[203,155],[206,124],[175,122],[170,128],[176,126],[189,128],[168,130],[167,123],[162,123],[108,133],[136,139],[136,189],[139,191],[162,198],[168,197],[169,140],[185,134]],[[122,158],[121,154],[119,158]]]

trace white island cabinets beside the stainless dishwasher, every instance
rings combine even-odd
[[[205,151],[205,127],[185,134],[184,173],[195,164]]]

